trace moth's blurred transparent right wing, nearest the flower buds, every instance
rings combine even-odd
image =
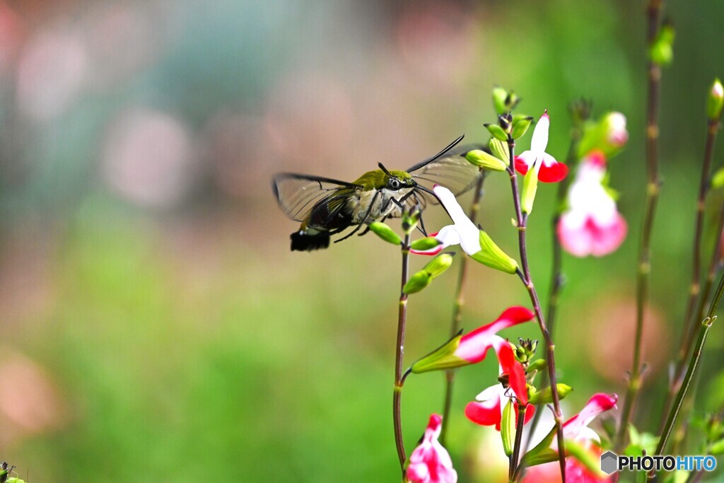
[[[465,154],[473,149],[487,151],[485,146],[451,146],[443,154],[413,166],[408,172],[427,190],[432,190],[437,184],[445,186],[455,196],[461,195],[473,188],[481,176],[480,169],[465,159]],[[437,199],[429,193],[423,190],[416,192],[420,197],[428,198],[430,203],[437,203]]]

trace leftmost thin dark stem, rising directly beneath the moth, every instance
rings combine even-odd
[[[408,280],[410,267],[410,233],[405,231],[405,240],[402,246],[403,268],[400,282],[400,306],[397,311],[397,345],[395,346],[395,387],[392,391],[392,422],[395,427],[395,447],[397,458],[400,459],[400,469],[405,477],[405,442],[403,441],[403,426],[400,413],[400,403],[403,391],[403,355],[405,352],[405,322],[407,321],[407,294],[403,291]]]

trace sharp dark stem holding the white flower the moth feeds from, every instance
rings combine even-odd
[[[521,211],[521,199],[520,191],[518,190],[518,176],[515,175],[515,169],[513,169],[515,159],[515,140],[508,135],[508,155],[510,156],[510,165],[508,166],[508,175],[510,175],[510,188],[513,190],[513,206],[515,207],[515,219],[518,225],[518,251],[521,254],[521,267],[522,272],[521,280],[523,285],[528,290],[528,295],[533,303],[533,310],[536,314],[536,321],[541,331],[545,345],[547,348],[546,359],[548,362],[548,378],[551,382],[551,392],[553,396],[553,412],[555,417],[555,427],[557,434],[558,448],[565,448],[563,443],[563,413],[560,411],[560,396],[558,395],[557,379],[555,375],[555,345],[548,332],[548,327],[545,323],[545,317],[541,309],[540,300],[538,293],[536,292],[535,286],[533,285],[533,278],[531,277],[531,267],[528,264],[528,248],[526,246],[526,223],[528,221],[528,215],[523,214]],[[558,461],[560,465],[560,477],[563,483],[565,483],[565,452],[561,451],[558,455]]]

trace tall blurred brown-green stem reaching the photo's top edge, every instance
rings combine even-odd
[[[647,9],[649,17],[648,45],[651,46],[660,28],[662,0],[651,0]],[[641,227],[641,246],[639,249],[639,267],[636,277],[636,336],[633,341],[633,363],[631,376],[628,379],[628,390],[623,403],[623,411],[616,435],[615,448],[620,452],[626,445],[628,421],[636,404],[636,397],[641,389],[641,345],[644,335],[644,314],[649,295],[649,274],[651,272],[651,235],[654,227],[654,215],[659,198],[661,181],[659,178],[659,162],[657,156],[657,140],[659,138],[658,113],[661,82],[661,67],[649,61],[647,127],[646,127],[646,167],[647,190],[644,222]]]

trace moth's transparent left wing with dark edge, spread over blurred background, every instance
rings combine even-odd
[[[281,173],[274,177],[271,188],[287,217],[296,222],[303,222],[319,201],[334,197],[345,188],[361,189],[362,187],[325,177]]]

